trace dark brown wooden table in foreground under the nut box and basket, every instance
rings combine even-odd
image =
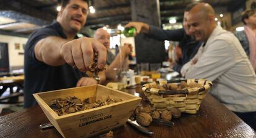
[[[139,95],[135,91],[140,90],[127,90],[130,94]],[[256,137],[256,132],[250,126],[210,94],[203,99],[196,115],[184,113],[180,118],[172,121],[174,122],[172,128],[151,124],[148,128],[155,132],[153,136],[142,134],[130,124],[124,124],[113,130],[114,137]],[[0,137],[62,137],[55,128],[39,129],[40,124],[47,122],[45,114],[36,105],[0,117]]]

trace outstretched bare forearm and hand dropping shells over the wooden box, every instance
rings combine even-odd
[[[106,48],[93,38],[79,38],[71,41],[56,36],[41,39],[35,45],[35,57],[51,66],[68,63],[85,72],[93,62],[93,52],[98,52],[98,68],[106,62]]]

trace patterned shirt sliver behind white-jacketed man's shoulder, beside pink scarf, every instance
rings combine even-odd
[[[245,34],[244,31],[236,31],[235,36],[239,39],[242,47],[244,48],[245,53],[247,54],[247,56],[250,56],[250,46],[249,46],[249,41],[248,38]]]

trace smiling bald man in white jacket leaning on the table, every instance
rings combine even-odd
[[[195,57],[182,67],[185,78],[213,82],[210,93],[255,129],[256,76],[239,40],[216,25],[215,10],[199,3],[189,10],[189,31],[202,41]]]

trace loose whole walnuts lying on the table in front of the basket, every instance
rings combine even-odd
[[[135,119],[137,123],[142,126],[149,126],[153,121],[153,118],[161,118],[166,121],[171,121],[172,118],[179,118],[179,116],[181,116],[181,112],[176,107],[173,107],[170,110],[156,111],[150,105],[147,105],[146,107],[140,105],[136,108],[134,115],[132,115],[130,119]]]

